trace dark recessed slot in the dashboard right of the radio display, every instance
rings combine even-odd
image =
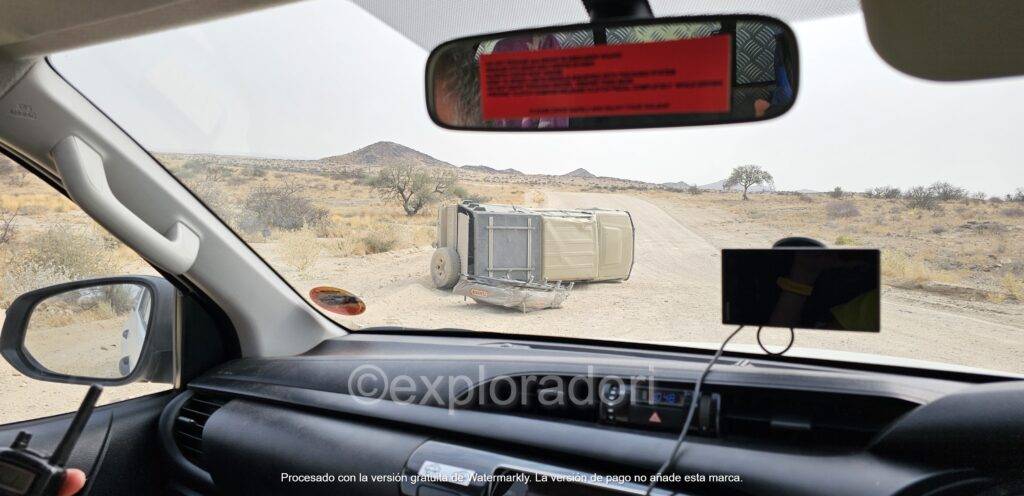
[[[716,387],[722,396],[722,433],[753,442],[863,448],[919,405],[860,395],[771,388]]]

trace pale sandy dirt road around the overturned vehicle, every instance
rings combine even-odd
[[[432,287],[429,249],[321,260],[308,286],[332,284],[360,295],[368,311],[340,322],[359,326],[456,327],[524,334],[621,340],[719,342],[720,249],[767,247],[784,235],[727,212],[655,205],[629,195],[546,193],[550,207],[629,210],[636,223],[636,261],[621,283],[577,285],[562,308],[521,314],[465,301]],[[303,281],[305,282],[305,281]],[[302,284],[300,284],[302,287]],[[964,302],[886,287],[883,331],[799,331],[797,345],[889,355],[1024,372],[1024,305]],[[782,342],[787,331],[766,339]],[[754,343],[741,333],[739,343]]]

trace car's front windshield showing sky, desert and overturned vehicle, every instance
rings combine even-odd
[[[361,299],[326,314],[347,329],[718,343],[720,250],[805,236],[882,250],[881,332],[798,330],[796,348],[1024,372],[1024,79],[902,75],[856,12],[792,27],[788,114],[654,130],[442,129],[432,45],[347,2],[50,60],[300,294]],[[727,179],[746,166],[744,192]]]

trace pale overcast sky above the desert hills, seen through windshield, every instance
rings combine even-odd
[[[427,51],[347,2],[316,1],[54,55],[143,147],[283,158],[392,140],[458,165],[653,182],[760,164],[783,190],[948,180],[1024,187],[1024,78],[931,83],[889,68],[859,14],[794,25],[800,94],[768,122],[563,133],[460,132],[424,105]]]

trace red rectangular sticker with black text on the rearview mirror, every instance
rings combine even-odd
[[[485,120],[729,112],[732,38],[480,55]]]

